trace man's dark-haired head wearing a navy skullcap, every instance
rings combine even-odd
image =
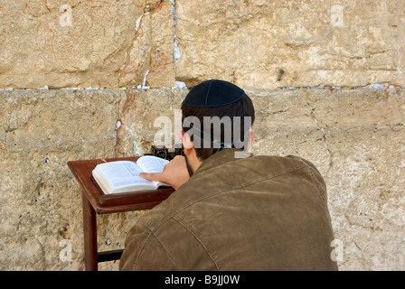
[[[182,115],[184,154],[190,174],[196,163],[190,160],[193,154],[197,158],[194,161],[202,163],[221,149],[247,150],[252,140],[252,101],[230,82],[212,79],[195,86],[184,99]]]

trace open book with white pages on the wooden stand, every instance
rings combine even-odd
[[[165,182],[151,182],[139,176],[139,172],[163,172],[165,164],[162,158],[144,155],[137,163],[117,161],[100,163],[93,170],[94,180],[105,193],[156,190],[160,186],[170,186]]]

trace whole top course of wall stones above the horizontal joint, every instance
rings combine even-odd
[[[404,14],[401,0],[1,0],[0,88],[403,86]]]

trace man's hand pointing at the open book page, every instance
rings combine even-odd
[[[139,176],[149,181],[165,182],[177,190],[184,182],[190,179],[185,165],[184,156],[176,155],[170,163],[165,165],[163,172],[146,173],[141,172]]]

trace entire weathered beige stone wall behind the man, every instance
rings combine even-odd
[[[405,269],[404,14],[401,0],[0,0],[0,269],[83,269],[66,163],[148,153],[155,119],[214,78],[253,99],[254,154],[324,175],[339,268]],[[143,213],[99,215],[99,248],[123,247]]]

